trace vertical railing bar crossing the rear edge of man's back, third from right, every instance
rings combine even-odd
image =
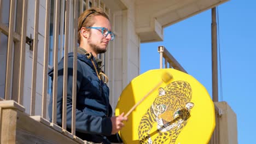
[[[54,2],[54,79],[53,79],[53,123],[57,122],[57,77],[58,77],[58,49],[59,49],[59,16],[60,0]]]

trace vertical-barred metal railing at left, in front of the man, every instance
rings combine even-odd
[[[75,135],[75,110],[76,110],[76,91],[77,91],[77,22],[78,15],[83,13],[84,10],[91,7],[102,8],[110,16],[110,9],[100,0],[83,0],[83,1],[69,1],[69,0],[44,0],[45,1],[45,23],[44,35],[39,33],[39,0],[34,1],[34,16],[30,19],[34,19],[33,24],[33,37],[27,37],[27,0],[17,1],[10,0],[0,1],[0,45],[4,43],[1,39],[1,35],[8,37],[8,45],[5,47],[7,49],[6,54],[6,70],[5,70],[5,83],[4,83],[4,95],[0,95],[0,100],[15,100],[18,104],[24,105],[24,79],[25,79],[25,62],[26,62],[26,43],[30,46],[30,53],[32,54],[32,70],[31,70],[31,97],[30,106],[25,107],[30,109],[28,113],[32,118],[35,118],[36,111],[36,99],[37,97],[37,83],[42,82],[42,99],[39,103],[42,104],[40,107],[40,121],[44,123],[49,123],[46,120],[47,106],[46,101],[49,98],[48,94],[48,70],[49,70],[49,31],[50,31],[50,17],[51,17],[51,7],[54,9],[53,13],[53,59],[54,62],[54,78],[53,78],[53,121],[49,124],[50,127],[62,132],[70,137],[66,128],[66,113],[67,113],[67,55],[68,52],[74,52],[73,59],[73,101],[72,101],[72,128],[71,133]],[[54,2],[54,5],[53,3]],[[15,4],[16,3],[16,4]],[[9,5],[9,19],[8,23],[2,22],[2,16],[5,14],[3,12],[3,7]],[[65,27],[64,27],[65,26]],[[72,28],[71,28],[72,27]],[[71,36],[69,36],[71,35]],[[41,37],[39,39],[39,36]],[[73,36],[73,37],[72,37]],[[43,38],[42,38],[43,37]],[[64,37],[64,39],[62,39]],[[43,64],[42,68],[38,69],[38,57],[42,53],[38,52],[39,41],[44,41],[44,53],[43,53]],[[64,42],[63,42],[64,41]],[[62,47],[63,46],[63,49]],[[32,48],[31,48],[32,47]],[[73,49],[69,49],[73,47]],[[64,52],[63,52],[64,51]],[[62,54],[63,53],[63,54]],[[61,54],[61,55],[60,55]],[[62,128],[56,123],[56,99],[57,99],[57,71],[58,62],[60,57],[64,57],[64,70],[63,70],[63,111],[62,111]],[[104,57],[104,55],[102,55]],[[1,65],[3,68],[3,66]],[[16,70],[18,72],[16,72]],[[43,80],[38,81],[37,71],[43,70]],[[2,75],[1,75],[2,76]],[[4,78],[1,78],[4,79]],[[2,97],[2,98],[1,98]],[[37,117],[37,116],[36,116]],[[72,136],[71,136],[72,137]],[[74,137],[74,136],[73,136]],[[78,142],[84,143],[82,140]]]

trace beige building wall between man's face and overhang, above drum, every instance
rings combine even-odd
[[[106,72],[109,76],[110,104],[113,110],[123,89],[139,75],[140,40],[135,32],[135,2],[122,3],[126,8],[116,10],[110,16],[112,31],[116,37],[110,42],[106,57],[109,59],[109,70]]]

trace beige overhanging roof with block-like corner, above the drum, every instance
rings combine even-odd
[[[163,40],[162,29],[229,0],[136,0],[136,33],[141,43]]]

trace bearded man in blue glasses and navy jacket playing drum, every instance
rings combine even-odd
[[[109,88],[104,80],[97,54],[107,51],[107,45],[114,39],[109,17],[104,11],[92,8],[84,11],[78,19],[78,56],[77,56],[77,110],[76,135],[83,140],[95,143],[110,143],[107,136],[117,134],[123,121],[124,113],[112,117],[109,104]],[[57,89],[57,124],[62,123],[63,93],[63,58],[58,66]],[[49,72],[53,80],[53,69]],[[72,80],[73,53],[68,54],[67,78],[67,129],[71,129],[72,118]],[[52,118],[53,97],[49,104],[49,117]]]

